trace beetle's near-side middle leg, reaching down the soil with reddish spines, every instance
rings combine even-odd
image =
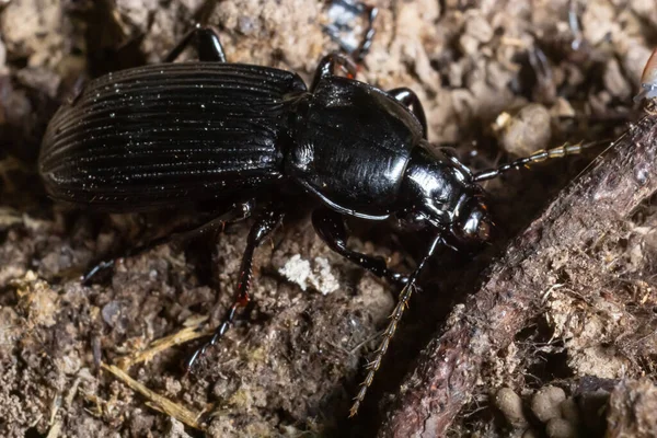
[[[217,341],[226,334],[228,328],[233,324],[235,313],[243,309],[250,301],[249,289],[251,288],[251,278],[253,275],[253,253],[261,245],[267,235],[278,227],[285,214],[276,204],[269,204],[257,217],[246,240],[246,250],[242,255],[242,264],[240,266],[240,277],[238,279],[238,288],[235,292],[235,301],[230,307],[223,321],[215,331],[211,339],[205,343],[187,359],[185,368],[187,371],[192,369],[196,359],[205,354],[208,347],[217,344]]]

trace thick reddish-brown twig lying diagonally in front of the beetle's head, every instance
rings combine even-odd
[[[540,312],[550,261],[586,247],[657,191],[657,116],[644,117],[521,233],[458,318],[425,347],[387,413],[380,437],[441,437],[471,399],[491,351]],[[568,239],[564,239],[567,235]],[[581,253],[581,252],[580,252]]]

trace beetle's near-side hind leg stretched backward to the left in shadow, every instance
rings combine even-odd
[[[84,274],[84,276],[82,277],[82,284],[89,285],[91,283],[91,280],[93,279],[93,277],[95,277],[99,273],[101,273],[105,269],[113,268],[114,265],[116,264],[116,262],[122,258],[132,257],[135,255],[142,254],[147,251],[152,250],[155,246],[160,246],[165,243],[170,243],[172,241],[189,241],[194,238],[200,237],[208,232],[215,232],[218,229],[223,228],[223,226],[226,226],[226,223],[238,222],[240,220],[246,219],[247,217],[251,216],[254,206],[255,206],[255,199],[250,199],[244,203],[234,204],[231,206],[231,208],[227,212],[224,212],[223,215],[219,216],[216,219],[212,219],[211,221],[209,221],[207,223],[204,223],[200,227],[193,228],[192,230],[182,230],[182,231],[175,232],[173,234],[169,234],[169,235],[165,235],[162,238],[154,239],[150,242],[147,242],[143,245],[140,245],[140,246],[137,246],[137,247],[134,247],[134,249],[127,251],[125,254],[123,254],[119,257],[101,261],[101,262],[96,263],[94,266],[92,266],[87,272],[87,274]]]

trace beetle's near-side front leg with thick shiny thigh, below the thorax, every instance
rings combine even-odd
[[[347,230],[343,217],[338,212],[328,208],[316,209],[312,212],[312,224],[318,235],[328,247],[348,261],[397,285],[405,285],[408,281],[407,276],[389,269],[382,257],[374,257],[349,250],[347,247]]]

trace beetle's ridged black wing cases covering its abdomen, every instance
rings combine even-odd
[[[189,62],[124,70],[55,115],[39,172],[59,200],[150,209],[229,196],[280,177],[301,79],[257,66]]]

